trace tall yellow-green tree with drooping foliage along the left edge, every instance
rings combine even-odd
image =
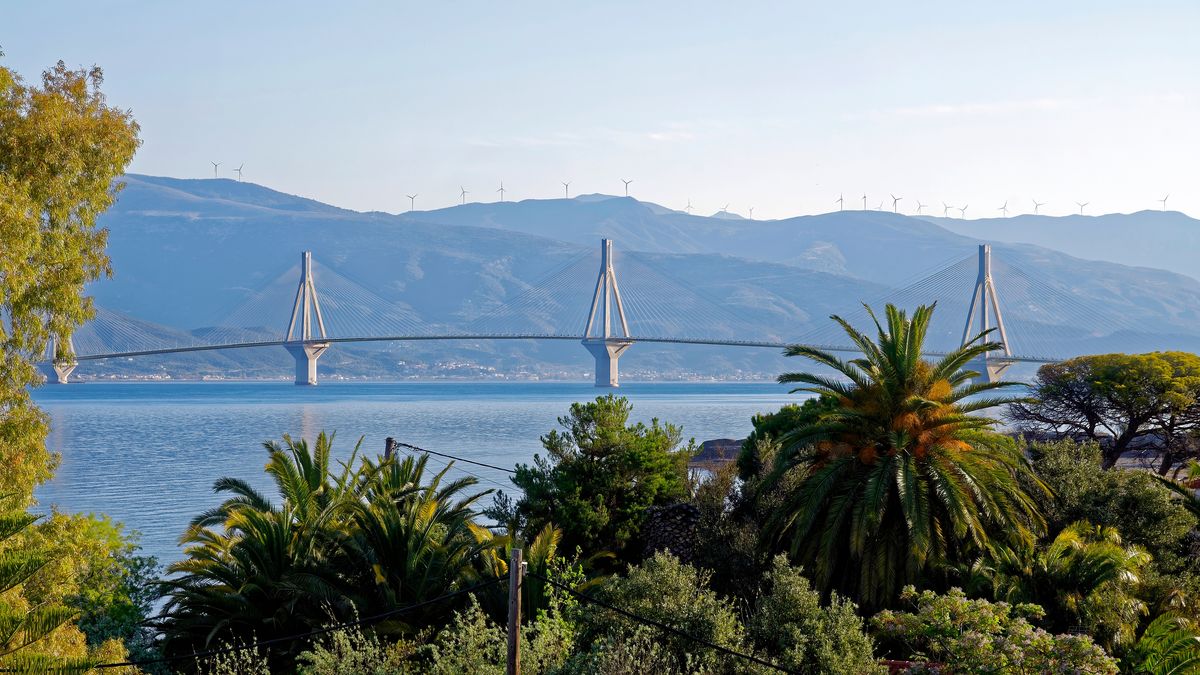
[[[0,485],[26,500],[55,465],[29,394],[35,363],[91,317],[84,286],[109,273],[96,217],[139,143],[102,83],[98,67],[62,61],[37,85],[0,66]]]

